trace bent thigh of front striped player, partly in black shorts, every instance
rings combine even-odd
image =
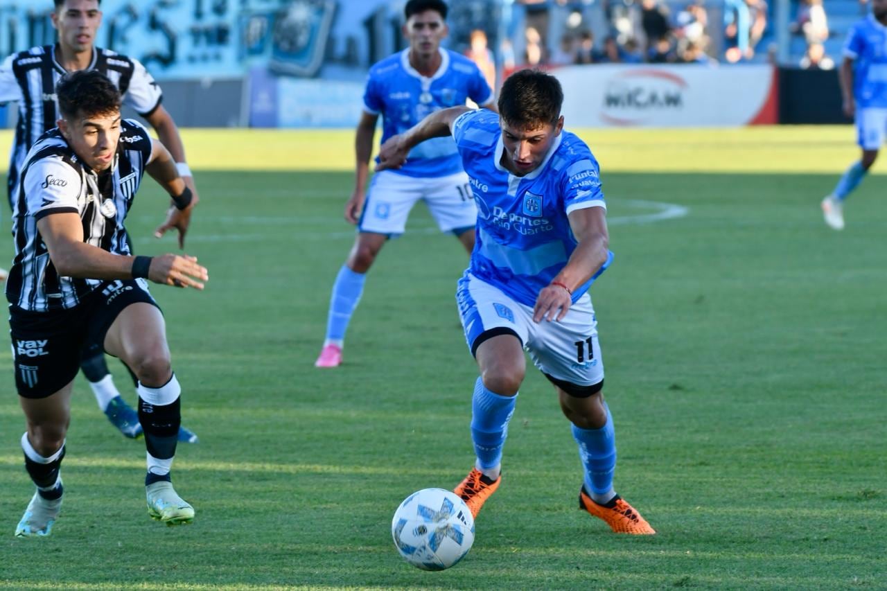
[[[163,314],[144,280],[116,280],[102,291],[88,342],[103,343],[105,351],[133,368],[145,360],[169,360]]]

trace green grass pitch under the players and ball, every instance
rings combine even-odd
[[[612,534],[577,509],[569,423],[528,368],[475,547],[449,571],[404,563],[398,503],[451,488],[473,461],[476,373],[453,297],[466,256],[417,207],[370,273],[345,365],[317,370],[353,240],[341,219],[353,133],[188,130],[201,202],[186,251],[210,281],[153,294],[200,435],[174,467],[195,523],[148,518],[144,444],[112,430],[78,378],[62,514],[51,538],[15,539],[33,489],[6,351],[0,588],[887,586],[883,165],[833,232],[819,201],[857,157],[850,127],[581,135],[616,253],[593,288],[616,490],[655,537]],[[176,248],[151,237],[167,202],[145,182],[129,224],[138,252]],[[686,215],[650,221],[676,206]],[[0,260],[11,253],[3,240]]]

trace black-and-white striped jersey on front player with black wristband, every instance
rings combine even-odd
[[[123,220],[150,162],[152,140],[139,122],[124,119],[121,127],[114,164],[98,174],[77,158],[58,129],[47,131],[27,153],[12,212],[15,258],[6,280],[12,305],[29,311],[70,309],[103,283],[59,277],[37,230],[43,217],[79,214],[84,242],[130,254]]]

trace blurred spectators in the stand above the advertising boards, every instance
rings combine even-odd
[[[865,2],[859,0],[858,12],[865,10]],[[479,6],[483,0],[460,4]],[[514,0],[497,10],[509,23],[505,33],[475,28],[467,51],[479,63],[489,62],[493,71],[495,64],[507,72],[522,66],[775,59],[773,9],[767,0]],[[827,55],[830,35],[823,0],[793,0],[791,10],[790,31],[805,43],[797,66],[835,67]]]

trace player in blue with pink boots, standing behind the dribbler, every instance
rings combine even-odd
[[[442,232],[455,234],[468,252],[475,246],[477,210],[468,177],[451,138],[417,147],[397,170],[369,176],[373,135],[382,116],[382,141],[410,129],[426,115],[471,98],[495,108],[493,93],[470,59],[441,48],[447,35],[447,5],[441,0],[410,0],[404,7],[404,37],[410,47],[370,69],[364,113],[357,124],[357,174],[354,193],[345,204],[345,219],[357,225],[357,239],[336,276],[326,323],[326,340],[318,367],[341,364],[345,331],[364,290],[370,270],[385,241],[404,232],[416,201],[428,205]]]

